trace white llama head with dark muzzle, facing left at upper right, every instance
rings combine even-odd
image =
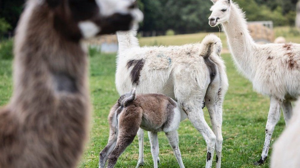
[[[210,8],[211,15],[208,18],[208,24],[211,27],[227,22],[230,16],[231,0],[211,0],[214,5]]]

